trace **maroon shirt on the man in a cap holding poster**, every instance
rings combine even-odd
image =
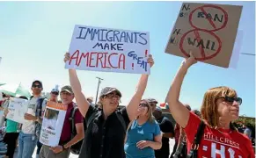
[[[69,120],[69,118],[71,117],[72,109],[73,109],[73,102],[68,105],[68,109],[66,111],[66,117],[62,127],[62,134],[60,139],[61,144],[63,142],[67,143],[69,140],[71,140],[71,121]],[[75,125],[84,122],[83,115],[78,110],[76,111],[74,118],[75,118]]]

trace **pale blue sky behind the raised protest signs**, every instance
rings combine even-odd
[[[243,5],[239,30],[244,33],[241,52],[255,54],[254,2],[207,2]],[[0,83],[19,83],[28,89],[34,79],[44,91],[69,84],[63,54],[69,49],[74,25],[91,25],[150,32],[150,52],[155,59],[144,97],[164,102],[182,58],[165,54],[166,42],[178,17],[181,2],[0,2]],[[84,94],[95,98],[100,84],[114,86],[128,104],[140,75],[77,71]],[[255,116],[255,57],[239,56],[238,68],[218,68],[197,63],[187,73],[180,100],[199,108],[203,94],[226,85],[243,98],[240,114]]]

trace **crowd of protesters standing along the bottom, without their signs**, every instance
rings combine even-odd
[[[64,61],[69,59],[69,53],[65,54]],[[151,55],[148,63],[153,67]],[[101,90],[99,103],[92,104],[92,98],[86,98],[82,92],[75,69],[69,69],[70,85],[61,90],[53,89],[49,98],[41,96],[42,82],[34,81],[31,86],[33,97],[19,97],[29,103],[30,110],[24,116],[26,123],[18,124],[5,118],[4,140],[1,142],[7,147],[5,157],[12,158],[18,147],[18,158],[31,158],[37,147],[37,157],[67,158],[70,147],[79,142],[83,142],[77,153],[80,158],[255,157],[252,132],[244,127],[240,133],[233,124],[242,104],[242,98],[235,90],[225,86],[208,90],[201,111],[192,110],[189,104],[179,101],[182,82],[195,63],[193,54],[181,63],[165,98],[165,108],[171,112],[175,125],[164,117],[156,99],[143,98],[149,75],[141,75],[134,95],[124,108],[119,107],[122,93],[114,87]],[[59,96],[61,101],[57,99]],[[10,97],[15,96],[4,94],[0,101],[5,117],[9,112]],[[39,141],[48,101],[60,102],[67,107],[56,147],[42,145]],[[69,119],[74,108],[77,108],[75,135]],[[170,151],[169,139],[175,140],[173,151]]]

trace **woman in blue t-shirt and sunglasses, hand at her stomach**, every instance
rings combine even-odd
[[[153,117],[152,107],[142,100],[139,108],[143,112],[128,126],[124,150],[127,158],[155,158],[155,151],[162,147],[160,127]]]

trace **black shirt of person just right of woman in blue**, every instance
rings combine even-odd
[[[173,133],[174,135],[174,128],[172,126],[172,122],[168,118],[159,118],[157,119],[157,122],[160,126],[160,130],[162,131],[162,133]],[[159,150],[155,150],[156,158],[168,158],[170,154],[169,150],[169,138],[162,137],[162,147]]]

